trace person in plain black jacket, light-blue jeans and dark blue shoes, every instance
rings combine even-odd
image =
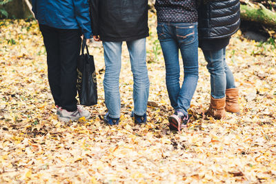
[[[126,41],[134,79],[132,116],[135,123],[146,123],[150,86],[146,66],[148,0],[90,0],[90,9],[94,39],[103,41],[106,64],[103,87],[108,113],[104,121],[109,125],[119,123],[121,44]]]

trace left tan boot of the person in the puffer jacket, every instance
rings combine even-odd
[[[213,116],[215,119],[223,119],[226,116],[225,112],[226,97],[222,99],[214,99],[211,96],[210,107],[206,115]]]

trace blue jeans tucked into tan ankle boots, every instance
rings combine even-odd
[[[225,96],[226,89],[236,88],[233,73],[226,63],[226,48],[202,51],[208,62],[207,68],[210,72],[211,96],[214,99],[222,99]]]

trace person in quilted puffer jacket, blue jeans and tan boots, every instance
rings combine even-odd
[[[210,107],[206,114],[221,119],[239,114],[238,89],[226,63],[226,46],[239,29],[239,0],[199,0],[199,47],[210,72]]]

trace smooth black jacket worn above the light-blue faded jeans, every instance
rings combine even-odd
[[[148,0],[90,0],[92,30],[102,41],[148,37]]]

